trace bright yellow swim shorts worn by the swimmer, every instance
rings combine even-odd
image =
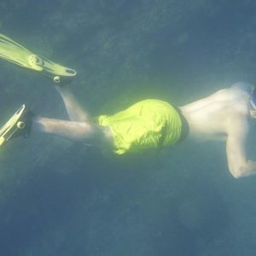
[[[160,100],[144,100],[111,116],[97,117],[99,125],[113,133],[113,152],[137,152],[176,143],[181,136],[182,120],[177,110]]]

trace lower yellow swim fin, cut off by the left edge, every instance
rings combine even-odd
[[[11,137],[16,137],[19,131],[26,128],[26,122],[23,119],[26,113],[26,105],[23,104],[15,114],[0,129],[0,147],[8,142]]]

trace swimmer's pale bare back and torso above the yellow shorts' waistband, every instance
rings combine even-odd
[[[189,137],[197,140],[224,139],[236,120],[247,118],[248,94],[230,88],[180,107],[189,122]]]

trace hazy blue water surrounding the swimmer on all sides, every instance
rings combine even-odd
[[[2,1],[0,27],[76,69],[73,93],[97,115],[255,84],[255,9],[230,0]],[[49,79],[6,61],[0,71],[1,122],[23,102],[67,119]],[[222,143],[118,157],[42,134],[17,138],[0,154],[0,252],[254,255],[255,182],[230,176]]]

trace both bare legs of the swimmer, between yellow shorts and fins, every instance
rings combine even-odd
[[[55,89],[60,93],[71,120],[47,119],[37,116],[32,119],[32,130],[64,137],[73,142],[100,148],[112,148],[113,136],[110,129],[93,123],[90,114],[84,111],[67,87],[55,86]]]

